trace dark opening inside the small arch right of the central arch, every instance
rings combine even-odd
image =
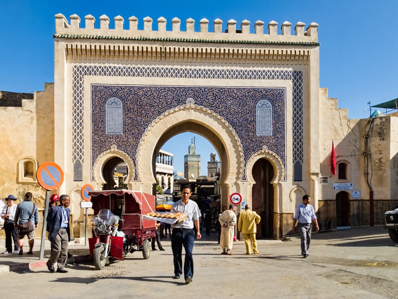
[[[258,159],[252,168],[255,184],[252,187],[252,211],[261,216],[257,226],[258,238],[273,236],[274,188],[272,180],[274,168],[265,158]]]

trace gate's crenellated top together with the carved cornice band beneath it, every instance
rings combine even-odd
[[[237,28],[235,20],[227,22],[223,32],[220,19],[209,25],[209,20],[200,20],[200,31],[195,31],[195,20],[185,22],[186,31],[181,31],[181,20],[172,19],[172,30],[166,30],[167,20],[158,18],[158,30],[153,30],[152,19],[143,19],[143,29],[138,29],[138,19],[129,18],[129,29],[124,29],[124,19],[114,18],[114,29],[109,29],[110,20],[100,16],[100,28],[95,28],[95,18],[85,16],[85,27],[80,17],[70,16],[70,23],[62,14],[55,16],[56,42],[63,42],[66,59],[108,61],[163,61],[188,63],[227,64],[308,64],[311,51],[319,46],[318,24],[295,25],[284,22],[278,32],[278,23],[271,21],[267,30],[264,22],[256,21],[254,33],[250,33],[250,21],[244,20]],[[140,26],[141,27],[141,26]],[[267,32],[266,32],[267,31]],[[252,31],[253,32],[253,31]]]

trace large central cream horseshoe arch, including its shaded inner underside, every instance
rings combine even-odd
[[[136,155],[139,181],[132,184],[139,184],[140,186],[136,188],[143,192],[153,192],[153,186],[156,184],[156,157],[160,148],[170,138],[184,132],[205,137],[219,154],[221,205],[226,206],[231,190],[240,191],[238,181],[243,168],[243,149],[240,139],[222,117],[204,107],[189,103],[188,100],[187,105],[174,111],[167,111],[146,129]],[[185,144],[176,146],[185,146]],[[152,168],[148,168],[148,165]]]

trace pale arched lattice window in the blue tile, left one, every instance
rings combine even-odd
[[[115,97],[105,104],[105,134],[123,135],[123,102]]]

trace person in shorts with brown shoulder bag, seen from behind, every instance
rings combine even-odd
[[[18,227],[18,224],[22,225],[30,219],[30,221],[35,224],[35,229],[37,228],[37,223],[39,222],[39,213],[37,212],[37,205],[35,205],[32,201],[32,197],[33,194],[31,192],[26,192],[23,196],[23,201],[18,203],[15,213],[15,227]],[[18,246],[20,249],[18,255],[23,254],[23,237],[25,235],[27,235],[29,244],[29,251],[26,254],[33,254],[32,250],[33,245],[35,244],[35,229],[33,229],[33,231],[30,233],[22,233],[20,230],[18,230]]]

